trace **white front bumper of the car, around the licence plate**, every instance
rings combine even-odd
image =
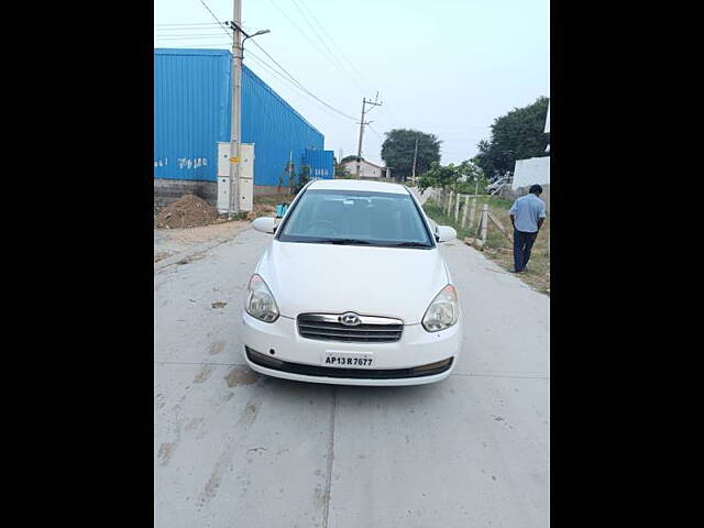
[[[402,338],[392,343],[307,339],[299,336],[296,320],[286,317],[267,323],[243,312],[242,322],[245,344],[242,352],[252,370],[270,376],[312,383],[391,386],[439,382],[451,374],[462,343],[461,319],[452,328],[435,333],[427,332],[421,324],[407,324]],[[324,367],[322,361],[327,352],[371,354],[374,367]],[[267,362],[267,359],[274,361]],[[418,370],[424,366],[425,371]],[[349,375],[345,376],[345,372]],[[369,377],[364,373],[370,373]]]

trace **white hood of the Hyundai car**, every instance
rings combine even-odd
[[[422,319],[449,282],[437,248],[367,248],[272,241],[256,266],[282,316],[305,312]]]

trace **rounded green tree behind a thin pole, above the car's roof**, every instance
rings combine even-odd
[[[391,167],[392,174],[402,182],[410,178],[413,174],[416,139],[418,139],[416,175],[428,170],[432,162],[440,162],[441,141],[435,134],[426,134],[418,130],[395,129],[386,132],[385,135],[382,160],[387,167]]]

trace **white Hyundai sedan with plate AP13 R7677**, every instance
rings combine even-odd
[[[339,385],[419,385],[450,375],[462,312],[433,230],[398,184],[315,180],[284,218],[252,275],[242,314],[254,371]]]

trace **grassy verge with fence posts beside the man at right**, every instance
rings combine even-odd
[[[513,227],[508,217],[508,209],[513,201],[494,196],[480,196],[476,199],[476,211],[474,224],[479,223],[482,206],[488,205],[488,210],[502,222],[504,228],[513,235]],[[459,221],[454,221],[454,204],[450,216],[444,215],[442,207],[432,198],[429,198],[424,205],[424,210],[428,217],[432,218],[440,226],[452,226],[458,232],[458,239],[464,241],[465,238],[476,238],[476,229],[473,227],[462,228],[459,223],[462,221],[462,207],[464,200],[461,201]],[[471,207],[471,199],[470,199]],[[470,211],[468,211],[468,224],[470,223]],[[512,252],[504,252],[501,249],[508,249]],[[484,254],[495,261],[504,270],[513,270],[514,255],[512,242],[496,228],[491,221],[486,233],[486,243],[484,245]],[[550,217],[546,221],[538,233],[536,243],[530,253],[530,261],[525,273],[518,274],[521,280],[530,285],[538,292],[550,293]]]

